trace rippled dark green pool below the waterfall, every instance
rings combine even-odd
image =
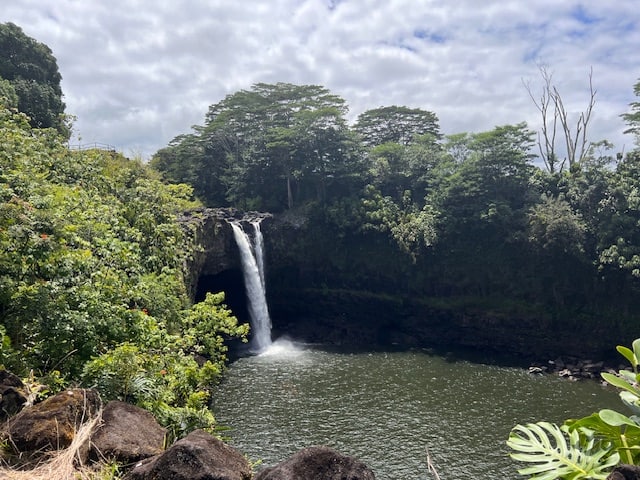
[[[515,424],[561,423],[601,408],[621,404],[596,382],[425,352],[286,347],[234,362],[214,402],[231,444],[263,467],[327,445],[362,460],[379,480],[432,478],[426,448],[442,480],[524,478],[505,446]]]

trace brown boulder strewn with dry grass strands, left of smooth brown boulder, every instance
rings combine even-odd
[[[91,420],[101,405],[95,390],[67,390],[20,411],[7,422],[4,437],[16,453],[66,448],[78,428]]]

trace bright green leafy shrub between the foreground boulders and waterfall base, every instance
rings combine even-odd
[[[221,293],[207,294],[183,312],[174,329],[147,315],[140,342],[123,343],[87,363],[83,381],[105,399],[148,409],[172,438],[195,428],[213,431],[215,418],[207,405],[227,360],[225,338],[246,341],[248,334],[248,325],[238,325],[223,300]]]

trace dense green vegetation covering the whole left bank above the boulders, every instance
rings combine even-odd
[[[0,52],[17,52],[9,60],[25,72],[38,71],[29,62],[55,65],[46,48],[5,49],[7,38],[35,42],[16,29],[0,25]],[[214,428],[207,407],[224,340],[248,326],[222,294],[197,304],[187,294],[193,246],[176,214],[197,205],[191,187],[116,152],[70,149],[66,130],[19,111],[13,87],[25,82],[38,88],[0,78],[0,364],[31,372],[34,392],[47,385],[42,395],[82,382],[137,403],[174,437]],[[45,118],[59,113],[53,105]]]

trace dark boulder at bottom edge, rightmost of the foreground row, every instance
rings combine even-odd
[[[353,457],[328,447],[309,447],[274,467],[262,470],[256,480],[374,480],[373,471]]]

